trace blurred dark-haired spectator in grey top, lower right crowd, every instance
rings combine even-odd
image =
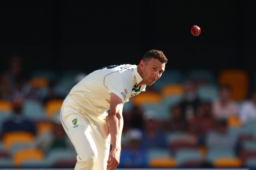
[[[236,151],[238,146],[238,136],[228,130],[226,119],[219,119],[214,130],[206,136],[207,149],[223,149]]]

